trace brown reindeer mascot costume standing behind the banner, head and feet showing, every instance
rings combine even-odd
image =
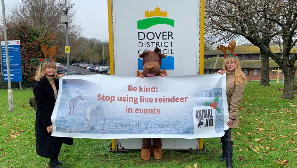
[[[137,71],[137,77],[151,77],[151,76],[167,76],[166,70],[160,70],[162,58],[166,55],[160,53],[160,49],[156,47],[154,51],[143,51],[139,55],[143,60],[143,72]],[[155,159],[162,158],[162,140],[161,138],[153,138],[154,145],[151,146],[151,138],[142,139],[141,158],[143,160],[149,160],[151,153],[153,153]]]

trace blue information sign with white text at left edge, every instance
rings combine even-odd
[[[8,45],[8,56],[9,56],[10,81],[22,82],[23,78],[22,78],[20,41],[19,40],[7,41],[7,45]],[[1,51],[2,51],[3,77],[4,77],[4,81],[8,81],[4,41],[1,41]]]

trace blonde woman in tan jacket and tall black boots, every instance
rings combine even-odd
[[[218,71],[218,73],[227,74],[226,93],[229,110],[229,121],[227,122],[227,125],[229,126],[229,129],[225,130],[225,135],[221,137],[223,154],[220,159],[221,162],[226,161],[227,168],[233,168],[231,129],[237,128],[238,107],[243,97],[244,87],[246,86],[246,76],[241,71],[238,58],[234,55],[227,56],[224,60],[223,70]]]

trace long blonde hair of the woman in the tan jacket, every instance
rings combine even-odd
[[[238,58],[233,57],[233,56],[228,56],[225,58],[224,65],[223,65],[223,71],[228,74],[228,73],[231,73],[231,71],[229,71],[227,68],[227,62],[235,63],[235,65],[236,65],[236,68],[234,70],[235,84],[244,88],[246,86],[246,75],[244,75],[244,73],[241,70],[241,66],[240,66]]]

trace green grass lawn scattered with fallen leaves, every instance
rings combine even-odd
[[[239,128],[232,129],[234,167],[297,167],[297,95],[279,99],[282,83],[259,86],[248,82],[239,109]],[[0,90],[0,167],[46,168],[49,159],[35,152],[35,111],[29,106],[32,89],[13,90],[14,111],[8,111],[7,90]],[[110,139],[75,138],[62,146],[63,167],[222,168],[219,138],[204,138],[206,152],[163,150],[163,159],[143,161],[140,150],[108,152]]]

